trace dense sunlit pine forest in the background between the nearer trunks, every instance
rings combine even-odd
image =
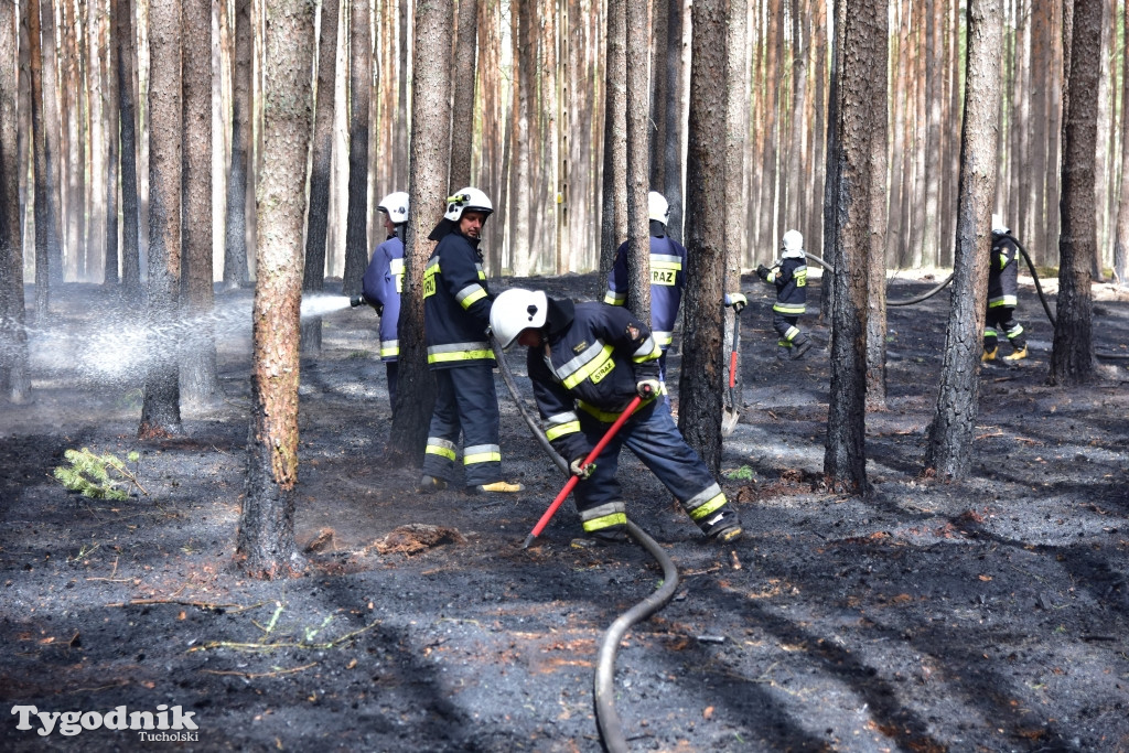
[[[29,186],[34,185],[32,55],[37,53],[51,176],[45,198],[59,208],[50,214],[47,233],[51,277],[88,282],[123,279],[135,284],[146,275],[149,237],[149,141],[134,137],[149,133],[149,3],[5,5],[19,11],[14,108],[19,141],[12,164],[19,173],[25,279],[33,280],[36,269]],[[207,93],[210,123],[201,123],[203,135],[195,142],[186,138],[185,143],[194,150],[203,147],[210,156],[210,196],[202,208],[212,218],[211,263],[216,279],[235,286],[254,275],[254,255],[248,259],[246,253],[254,247],[254,185],[263,160],[270,158],[262,151],[263,50],[262,34],[255,33],[263,24],[263,9],[251,0],[204,5],[208,17],[198,20],[207,26],[191,29],[185,40],[186,51],[194,45],[192,56],[207,59],[190,67],[186,54],[184,76],[186,87],[189,78],[203,77],[194,86]],[[644,54],[649,61],[649,183],[669,200],[669,233],[681,238],[690,5],[680,0],[648,5],[649,50]],[[1121,249],[1129,243],[1129,230],[1119,229],[1118,221],[1129,201],[1121,157],[1129,123],[1123,107],[1124,34],[1118,21],[1124,3],[1101,5],[1101,50],[1093,51],[1101,70],[1093,272],[1096,279],[1117,272],[1123,280]],[[453,165],[449,187],[473,183],[493,199],[498,212],[484,243],[488,271],[493,274],[585,272],[599,266],[607,67],[622,53],[622,45],[616,50],[614,41],[609,42],[610,6],[618,3],[463,0],[454,20],[472,33],[456,32],[450,54],[430,63],[474,77],[455,82],[452,138],[471,138],[472,149],[470,165]],[[343,278],[347,290],[359,284],[368,253],[383,239],[376,202],[408,187],[413,7],[385,0],[340,7],[320,3],[317,26],[325,49],[317,53],[317,86],[332,89],[317,93],[318,123],[332,128],[329,155],[315,155],[329,160],[323,270],[327,277]],[[42,18],[38,50],[28,38],[32,9]],[[804,233],[808,251],[821,252],[833,19],[822,0],[753,0],[741,2],[741,9],[746,25],[729,40],[730,44],[736,40],[743,64],[743,76],[730,86],[746,95],[738,97],[743,102],[735,114],[744,135],[743,169],[741,180],[729,184],[735,193],[727,194],[727,201],[732,196],[745,208],[741,260],[747,269],[772,259],[780,235],[793,227]],[[889,3],[889,11],[886,263],[892,269],[948,266],[956,219],[966,8],[955,0],[899,0]],[[1057,263],[1060,221],[1062,23],[1058,0],[1004,3],[995,208],[1035,263],[1047,266]],[[467,45],[470,65],[458,63]],[[2,53],[10,58],[16,49]],[[326,63],[332,76],[322,70]],[[326,104],[329,117],[323,112]],[[128,148],[120,139],[122,117],[134,121],[126,134],[134,151],[134,165],[126,168],[135,176],[131,185],[122,180],[119,164],[119,156],[130,159],[122,155]],[[123,200],[126,210],[131,200],[121,193],[132,192],[133,185],[135,251],[123,214]],[[357,230],[349,227],[358,221],[366,222],[365,239],[350,244],[348,238]]]

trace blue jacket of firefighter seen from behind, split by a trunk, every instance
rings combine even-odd
[[[674,340],[674,322],[685,287],[686,248],[667,236],[650,237],[650,329],[663,350]],[[607,273],[604,303],[623,306],[628,300],[628,244],[615,252],[615,264]]]

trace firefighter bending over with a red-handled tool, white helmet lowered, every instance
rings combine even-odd
[[[490,327],[502,348],[517,342],[528,349],[527,368],[545,435],[580,479],[574,494],[585,534],[612,541],[627,535],[627,506],[615,479],[620,449],[627,445],[703,534],[723,543],[741,536],[737,511],[679,432],[667,401],[659,399],[660,350],[631,312],[511,289],[495,300]],[[595,462],[584,465],[637,394],[644,402],[634,414]]]

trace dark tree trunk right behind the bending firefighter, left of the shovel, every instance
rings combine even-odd
[[[685,312],[679,429],[714,473],[721,467],[721,283],[725,272],[725,150],[728,64],[724,0],[694,2],[686,152]]]

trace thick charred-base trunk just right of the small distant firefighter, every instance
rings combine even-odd
[[[886,3],[847,1],[842,78],[839,90],[835,272],[832,274],[831,399],[823,472],[828,485],[867,493],[866,481],[866,333],[867,286],[875,225],[874,150],[885,142]],[[876,71],[882,71],[876,75]],[[878,104],[881,103],[881,104]]]

